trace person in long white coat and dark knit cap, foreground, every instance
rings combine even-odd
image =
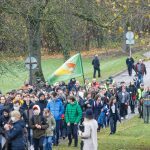
[[[84,129],[79,130],[79,136],[81,137],[81,150],[97,150],[97,121],[93,118],[92,109],[86,110],[86,116],[83,122]]]

